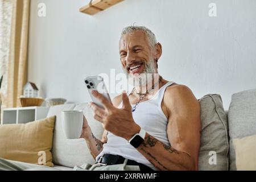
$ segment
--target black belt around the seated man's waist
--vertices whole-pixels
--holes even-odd
[[[98,164],[101,164],[103,166],[106,165],[114,165],[114,164],[123,164],[125,162],[126,158],[123,158],[120,155],[112,155],[112,154],[103,154],[100,159],[97,161]],[[134,160],[127,159],[127,165],[130,166],[139,166],[141,171],[154,171],[150,167],[147,167],[146,165],[142,163],[138,163]]]

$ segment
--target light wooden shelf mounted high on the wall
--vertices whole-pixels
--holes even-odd
[[[91,5],[89,4],[84,7],[81,7],[80,12],[89,15],[94,15],[122,1],[125,0],[94,0],[92,1]]]

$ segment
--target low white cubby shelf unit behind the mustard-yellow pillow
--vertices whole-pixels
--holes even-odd
[[[17,107],[3,110],[2,124],[22,124],[47,117],[49,107]]]

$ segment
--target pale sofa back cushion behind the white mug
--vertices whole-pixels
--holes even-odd
[[[61,111],[63,110],[83,110],[94,136],[101,139],[103,133],[101,123],[93,118],[92,111],[87,104],[51,107],[48,115],[57,115],[53,138],[53,163],[71,168],[85,163],[95,163],[84,139],[66,139],[64,137],[61,122]]]

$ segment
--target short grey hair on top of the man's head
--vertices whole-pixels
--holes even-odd
[[[154,48],[155,44],[157,44],[157,40],[155,37],[155,34],[149,30],[147,27],[144,26],[128,26],[123,28],[122,34],[121,36],[125,35],[125,34],[132,34],[135,31],[142,31],[145,33],[147,39],[148,39],[148,43],[150,44],[151,48]]]

